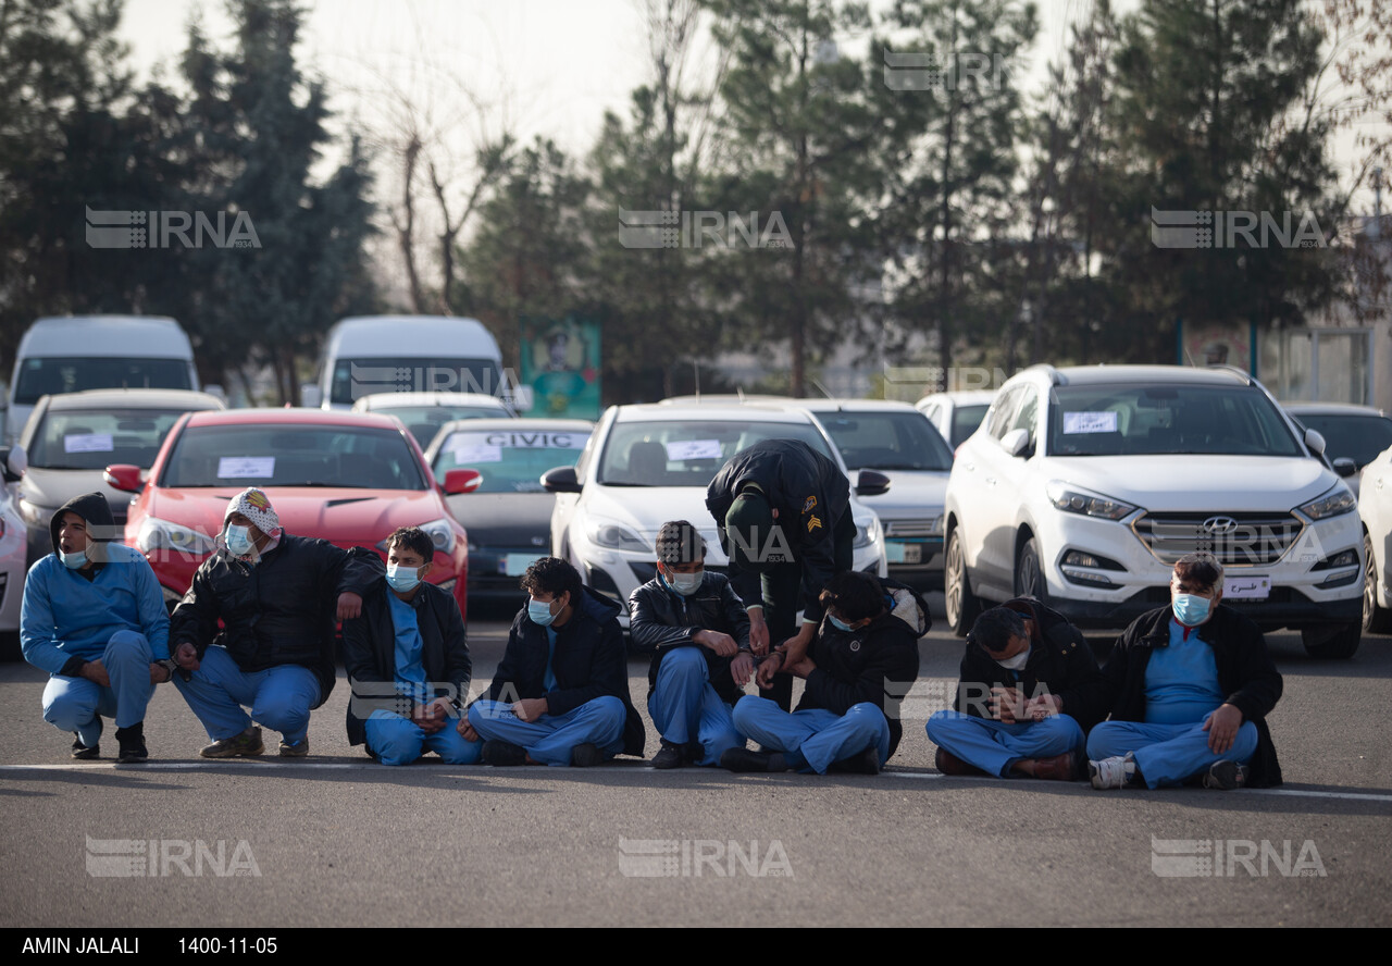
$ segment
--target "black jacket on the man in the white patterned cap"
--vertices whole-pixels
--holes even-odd
[[[221,644],[242,671],[299,664],[319,678],[323,704],[334,689],[338,594],[366,597],[384,572],[370,550],[288,533],[255,567],[220,547],[170,615],[170,651],[188,642],[202,660],[209,644]]]

